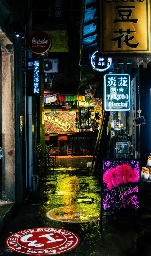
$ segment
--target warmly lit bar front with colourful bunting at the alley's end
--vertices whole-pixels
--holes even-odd
[[[45,95],[47,96],[47,95]],[[78,137],[79,154],[83,155],[85,151],[85,139],[89,136],[86,151],[89,155],[91,147],[95,147],[96,137],[98,134],[99,119],[94,112],[95,106],[91,103],[90,98],[85,95],[63,96],[56,94],[44,98],[44,124],[45,124],[45,144],[52,145],[53,153],[58,153],[58,136],[64,134],[68,140],[68,152],[71,154],[73,140]],[[76,137],[74,137],[76,136]],[[91,138],[90,138],[91,137]],[[77,146],[77,145],[76,145]],[[75,147],[75,145],[74,145]],[[65,141],[60,142],[61,149],[67,149]],[[66,154],[62,150],[62,154]]]

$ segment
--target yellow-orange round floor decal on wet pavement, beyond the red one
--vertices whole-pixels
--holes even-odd
[[[83,205],[79,207],[76,205],[68,205],[59,208],[54,208],[46,213],[49,219],[62,222],[89,222],[100,219],[100,211],[96,212],[96,208],[92,206],[89,209]]]

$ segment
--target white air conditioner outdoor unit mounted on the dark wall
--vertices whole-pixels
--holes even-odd
[[[44,59],[45,73],[58,73],[58,59]]]

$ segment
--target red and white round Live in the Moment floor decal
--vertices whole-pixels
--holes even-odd
[[[28,255],[60,254],[72,250],[79,244],[79,237],[64,229],[26,229],[6,239],[10,250]]]

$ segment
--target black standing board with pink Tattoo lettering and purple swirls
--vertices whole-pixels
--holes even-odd
[[[135,212],[139,209],[139,170],[137,159],[103,159],[103,212]]]

